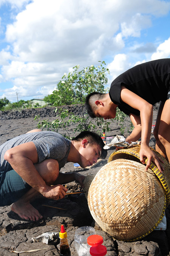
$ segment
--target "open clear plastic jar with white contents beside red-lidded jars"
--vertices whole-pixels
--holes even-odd
[[[87,238],[95,234],[95,229],[91,226],[83,226],[76,229],[74,242],[79,256],[88,256]]]

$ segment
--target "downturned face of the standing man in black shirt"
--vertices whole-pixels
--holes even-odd
[[[107,105],[97,105],[97,109],[94,111],[94,115],[99,118],[111,119],[115,118],[116,116],[116,105],[115,107],[110,108]]]

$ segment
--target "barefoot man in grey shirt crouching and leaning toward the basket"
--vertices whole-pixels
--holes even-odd
[[[83,131],[73,140],[56,132],[31,130],[0,146],[0,206],[11,209],[25,220],[43,216],[29,203],[41,194],[62,199],[67,188],[62,184],[77,181],[83,187],[85,176],[60,173],[66,162],[82,168],[105,158],[104,142],[94,132]],[[53,185],[53,186],[51,186]]]

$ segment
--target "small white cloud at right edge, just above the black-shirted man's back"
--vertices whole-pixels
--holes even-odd
[[[152,54],[151,60],[170,58],[170,37],[158,46],[156,52]]]

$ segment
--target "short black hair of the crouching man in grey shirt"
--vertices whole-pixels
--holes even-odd
[[[102,149],[102,152],[100,155],[101,159],[105,159],[107,157],[107,149],[103,148],[105,146],[105,143],[103,142],[102,138],[96,132],[84,130],[84,131],[80,132],[80,134],[77,135],[72,140],[82,141],[85,138],[89,141],[89,143],[91,145],[99,144],[100,148]]]

